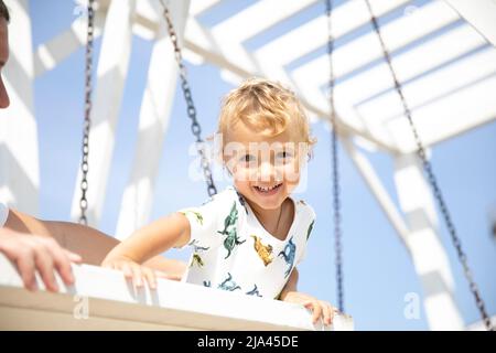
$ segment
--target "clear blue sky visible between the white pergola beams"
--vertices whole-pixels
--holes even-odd
[[[202,17],[205,25],[222,21],[252,1],[225,1]],[[338,1],[341,3],[343,1]],[[422,6],[427,1],[413,1]],[[247,45],[257,47],[295,23],[308,21],[323,11],[323,4],[311,7],[299,17],[271,29]],[[33,46],[50,40],[75,19],[69,0],[31,1]],[[357,34],[358,35],[358,34]],[[96,55],[99,53],[97,41]],[[100,228],[115,232],[122,191],[130,174],[142,92],[152,43],[134,38],[130,72],[120,110],[115,156]],[[41,197],[40,215],[50,220],[69,220],[75,179],[78,170],[83,121],[84,56],[77,51],[35,83],[35,114],[39,122]],[[319,55],[314,53],[313,55]],[[311,58],[312,55],[309,56]],[[306,58],[306,60],[309,60]],[[292,63],[291,65],[301,65]],[[220,98],[233,86],[209,65],[187,65],[193,97],[204,136],[215,130]],[[168,77],[164,77],[166,79]],[[205,85],[208,83],[208,85]],[[300,267],[300,290],[315,297],[335,300],[334,246],[332,239],[332,191],[330,133],[323,124],[312,126],[319,142],[309,165],[309,188],[301,195],[316,211],[317,222],[309,244],[305,261]],[[187,178],[193,137],[180,90],[176,92],[171,124],[163,143],[159,178],[155,185],[152,218],[180,207],[205,201],[203,182]],[[93,147],[93,151],[97,150]],[[455,220],[470,265],[490,314],[496,313],[496,242],[490,237],[488,212],[496,207],[496,124],[489,124],[445,141],[433,150],[432,162],[443,194]],[[382,153],[367,153],[395,202],[392,159]],[[423,330],[425,314],[419,320],[403,317],[405,296],[422,296],[422,288],[407,250],[387,222],[360,175],[341,152],[345,307],[355,318],[358,330]],[[219,184],[222,188],[225,184]],[[299,196],[300,197],[300,196]],[[442,222],[440,222],[442,223]],[[455,299],[465,323],[478,320],[478,312],[456,261],[449,234],[442,226],[441,242],[452,264]],[[188,253],[171,252],[186,259]]]

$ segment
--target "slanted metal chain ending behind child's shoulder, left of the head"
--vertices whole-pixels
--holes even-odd
[[[202,127],[200,126],[198,120],[196,119],[196,108],[193,103],[193,96],[191,93],[190,84],[187,83],[187,75],[186,75],[186,67],[183,63],[183,56],[181,53],[181,49],[179,46],[179,39],[177,34],[174,30],[174,25],[172,23],[171,13],[169,11],[169,8],[165,6],[163,0],[160,1],[163,7],[163,17],[165,18],[165,21],[168,23],[168,32],[169,36],[171,39],[172,45],[174,46],[174,55],[175,61],[179,66],[179,74],[181,78],[181,88],[183,90],[184,99],[186,100],[186,111],[187,117],[191,119],[191,131],[196,138],[196,151],[198,152],[201,157],[201,165],[203,169],[203,175],[205,176],[205,181],[207,183],[207,192],[208,196],[213,196],[217,193],[217,189],[215,188],[214,180],[212,176],[212,170],[209,165],[208,158],[205,154],[205,150],[203,149],[204,140],[202,139]]]

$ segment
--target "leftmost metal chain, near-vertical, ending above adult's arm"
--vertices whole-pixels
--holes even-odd
[[[88,208],[88,201],[86,200],[86,193],[88,191],[88,156],[89,156],[89,128],[91,126],[91,69],[93,69],[93,40],[94,40],[94,0],[88,1],[88,28],[86,40],[86,67],[85,67],[85,121],[83,127],[83,158],[80,161],[80,200],[79,200],[79,223],[87,225],[88,220],[86,217],[86,210]]]

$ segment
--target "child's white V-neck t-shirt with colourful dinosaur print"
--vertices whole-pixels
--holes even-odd
[[[284,240],[267,232],[234,186],[200,207],[182,208],[194,252],[184,281],[245,295],[278,298],[303,259],[315,213],[304,201]]]

